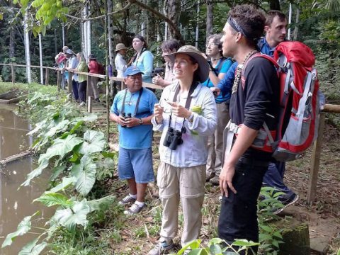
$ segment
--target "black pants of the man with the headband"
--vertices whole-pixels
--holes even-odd
[[[228,244],[232,244],[234,239],[259,241],[257,198],[268,163],[241,158],[235,166],[232,185],[237,193],[229,190],[229,196],[223,196],[218,220],[218,237]],[[257,247],[254,247],[255,250]]]

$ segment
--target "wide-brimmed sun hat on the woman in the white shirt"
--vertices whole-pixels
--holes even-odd
[[[209,64],[208,61],[205,60],[205,57],[203,57],[202,52],[200,52],[196,47],[192,45],[184,45],[177,50],[177,52],[171,53],[169,55],[166,55],[166,57],[169,57],[171,62],[175,61],[176,54],[186,54],[198,62],[198,76],[200,79],[200,82],[206,81],[209,77]]]

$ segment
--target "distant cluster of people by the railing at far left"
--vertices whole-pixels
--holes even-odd
[[[89,72],[91,74],[99,74],[99,63],[93,54],[88,57],[88,64],[84,53],[78,52],[77,55],[69,49],[62,47],[62,52],[55,56],[55,62],[62,72],[62,89],[65,89],[65,84],[69,81],[69,72],[72,72],[72,96],[75,101],[79,102],[80,106],[86,105],[86,90],[89,84],[89,96],[94,98],[94,101],[99,102],[99,91],[97,87],[98,78],[88,77],[86,74],[76,74],[74,71]]]

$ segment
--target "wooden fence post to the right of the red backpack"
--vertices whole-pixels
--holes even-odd
[[[307,191],[307,202],[312,203],[317,192],[317,175],[319,174],[319,165],[321,157],[321,149],[323,142],[324,120],[326,113],[320,113],[319,128],[317,130],[317,140],[314,142],[312,152],[312,162],[310,165],[310,180]]]

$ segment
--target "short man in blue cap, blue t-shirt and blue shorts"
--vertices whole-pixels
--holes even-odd
[[[142,88],[142,74],[135,66],[125,70],[127,89],[115,96],[110,113],[110,119],[118,123],[118,176],[129,185],[129,195],[119,204],[132,204],[124,211],[125,215],[144,208],[147,183],[154,181],[151,119],[157,98],[152,91]]]

